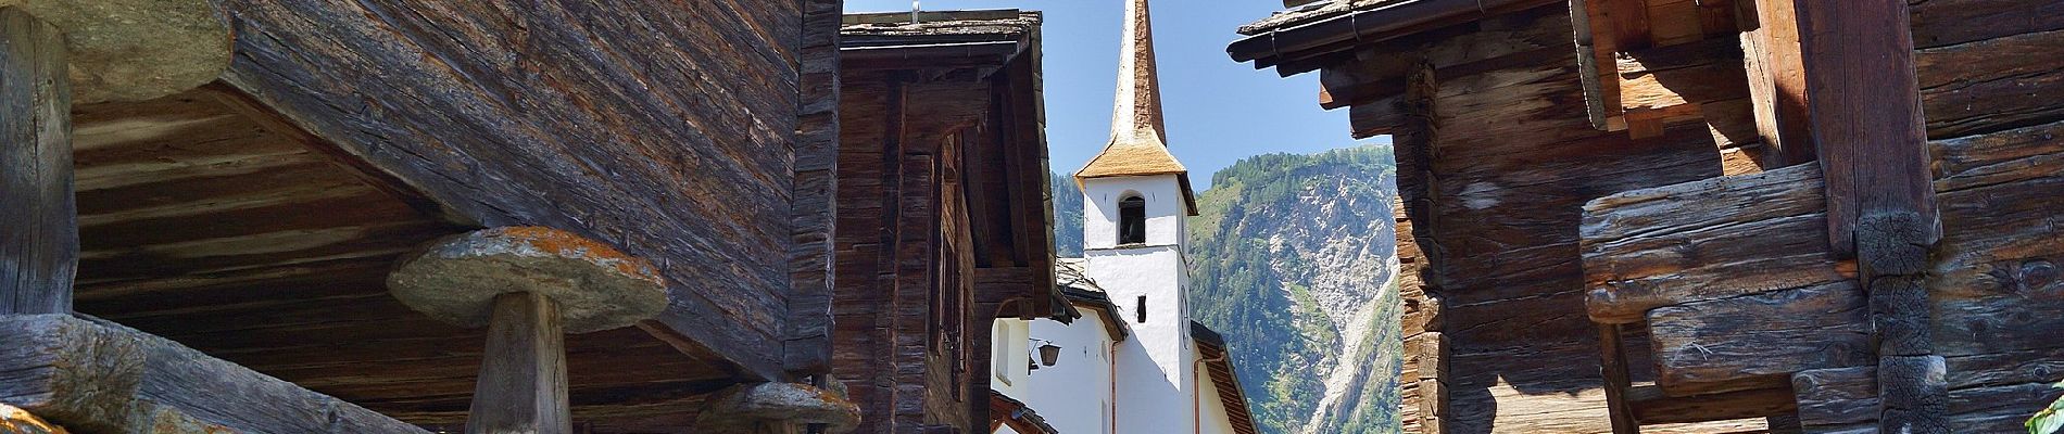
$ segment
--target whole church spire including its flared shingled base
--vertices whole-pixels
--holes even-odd
[[[1154,64],[1154,16],[1148,0],[1125,0],[1125,37],[1119,45],[1119,93],[1110,113],[1110,142],[1075,171],[1075,181],[1100,177],[1174,175],[1183,206],[1197,214],[1189,187],[1189,169],[1168,154],[1168,128],[1162,121],[1160,78]]]

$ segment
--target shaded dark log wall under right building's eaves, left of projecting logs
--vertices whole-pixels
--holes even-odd
[[[1406,368],[1418,378],[1401,385],[1420,407],[1418,430],[1606,432],[1575,247],[1583,202],[1717,177],[1713,138],[1703,125],[1647,140],[1591,128],[1562,6],[1428,35],[1329,68],[1430,68],[1430,130],[1397,132],[1395,119],[1410,115],[1385,115],[1395,107],[1383,103],[1354,107],[1360,136],[1399,138],[1397,187],[1410,216],[1399,243],[1418,247],[1399,253],[1424,257],[1424,265],[1408,257],[1401,290],[1437,298],[1408,298],[1420,306],[1408,304],[1404,321]],[[1412,267],[1420,282],[1410,282]],[[1443,411],[1443,397],[1445,418],[1426,418]]]

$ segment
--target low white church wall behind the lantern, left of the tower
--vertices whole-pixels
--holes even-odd
[[[1082,315],[1073,325],[1053,319],[1030,323],[1032,337],[1061,346],[1061,360],[1055,366],[1032,370],[1030,391],[1011,397],[1030,405],[1061,432],[1110,434],[1110,424],[1102,418],[1112,403],[1112,339],[1098,311],[1082,309]]]

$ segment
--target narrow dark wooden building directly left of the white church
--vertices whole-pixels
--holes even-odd
[[[857,432],[982,432],[991,321],[1073,319],[1053,278],[1038,25],[844,19],[832,337]]]

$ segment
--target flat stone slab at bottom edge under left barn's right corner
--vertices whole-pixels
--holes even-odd
[[[848,432],[861,424],[861,405],[838,391],[760,383],[718,391],[696,415],[696,432],[745,434],[760,424],[824,424],[826,432]]]

